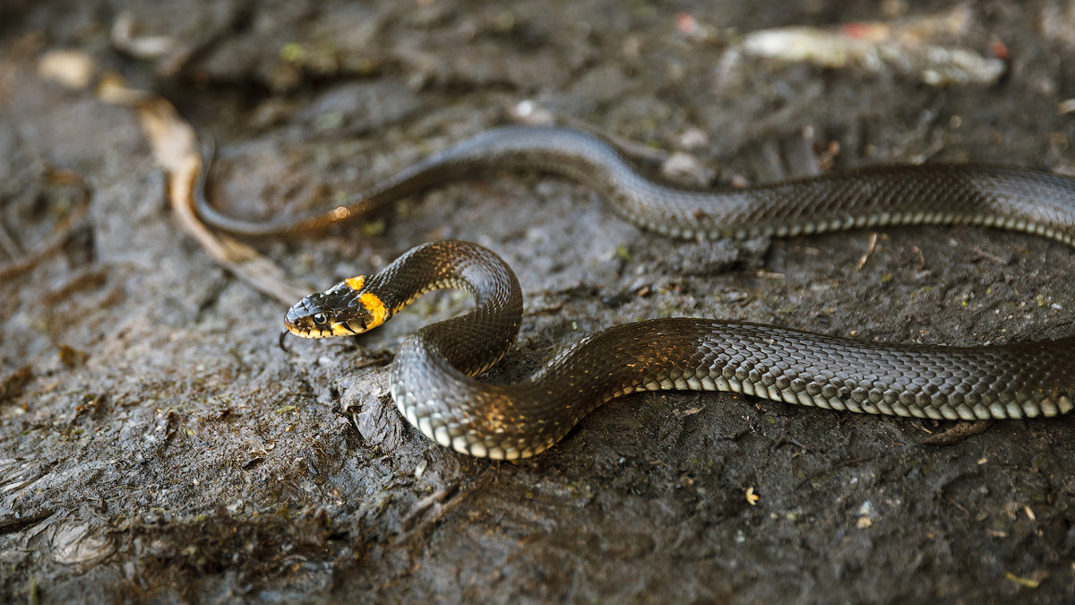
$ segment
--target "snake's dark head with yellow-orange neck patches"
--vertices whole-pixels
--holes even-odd
[[[284,316],[284,327],[302,338],[362,334],[390,314],[381,298],[362,287],[364,278],[344,280],[325,292],[296,302]]]

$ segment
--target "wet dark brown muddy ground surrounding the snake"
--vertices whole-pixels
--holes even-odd
[[[1072,419],[998,422],[937,447],[922,441],[952,423],[647,393],[533,460],[457,454],[399,417],[386,362],[463,298],[284,354],[285,309],[176,228],[134,113],[39,71],[49,51],[78,50],[169,98],[215,133],[211,196],[244,216],[331,203],[507,122],[524,100],[689,154],[680,180],[692,184],[812,173],[823,157],[1075,170],[1075,117],[1058,109],[1075,82],[1071,3],[973,5],[943,43],[1006,57],[1005,72],[943,88],[736,45],[763,28],[955,4],[744,5],[0,9],[0,222],[15,256],[34,258],[0,283],[0,600],[1070,597]],[[152,57],[117,43],[117,20],[130,39],[159,37]],[[92,197],[38,254],[77,198],[49,168],[81,174]],[[519,343],[491,381],[524,378],[592,330],[668,315],[948,344],[1075,333],[1061,244],[891,228],[860,269],[871,236],[672,241],[575,183],[489,174],[321,237],[254,243],[313,289],[431,239],[491,248],[527,296]]]

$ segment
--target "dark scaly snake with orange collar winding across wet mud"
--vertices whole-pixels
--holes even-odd
[[[245,221],[204,200],[199,212],[211,226],[236,235],[300,234],[448,181],[504,169],[577,180],[639,227],[680,239],[947,224],[1024,231],[1075,245],[1075,179],[1050,172],[884,165],[746,188],[692,189],[645,175],[603,137],[559,126],[484,131],[327,212]],[[362,334],[440,289],[467,291],[474,308],[406,337],[390,365],[390,392],[424,435],[474,456],[535,455],[598,406],[636,391],[726,391],[935,420],[1055,417],[1075,406],[1075,337],[979,347],[879,343],[698,318],[612,326],[569,347],[527,380],[490,384],[476,377],[515,341],[521,289],[497,254],[456,240],[418,245],[372,276],[304,297],[287,311],[282,340],[287,334]]]

